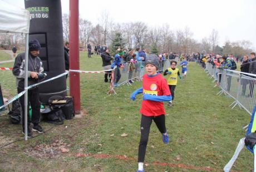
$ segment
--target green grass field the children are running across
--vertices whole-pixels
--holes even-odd
[[[88,59],[84,52],[80,54],[83,70],[102,70],[101,64],[99,56]],[[13,97],[12,73],[0,71],[0,77],[4,97]],[[45,130],[52,128],[46,134],[1,148],[0,171],[136,171],[142,97],[138,95],[135,102],[129,97],[141,82],[118,87],[117,95],[109,96],[103,74],[81,74],[80,80],[82,112],[86,115],[54,128],[42,122]],[[163,144],[155,124],[151,125],[146,171],[221,171],[228,163],[250,117],[245,110],[228,107],[233,99],[216,96],[219,88],[213,86],[204,70],[191,62],[187,80],[178,81],[174,106],[165,105],[168,145]],[[21,126],[9,124],[6,115],[0,117],[0,125],[0,147],[23,138]],[[123,133],[127,136],[122,137]],[[37,145],[47,148],[56,144],[68,153],[52,159],[35,155]],[[244,149],[233,170],[252,169],[253,155]]]

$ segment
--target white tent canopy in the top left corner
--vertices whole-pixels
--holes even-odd
[[[29,33],[29,12],[2,0],[0,4],[0,32]]]

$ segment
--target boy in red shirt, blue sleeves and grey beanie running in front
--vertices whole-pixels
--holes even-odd
[[[150,54],[146,59],[146,72],[143,75],[142,87],[135,90],[131,94],[131,99],[135,100],[136,95],[143,93],[143,100],[140,109],[140,144],[138,153],[137,172],[144,172],[143,164],[146,154],[147,141],[149,139],[149,131],[152,120],[154,120],[157,128],[162,134],[162,139],[165,144],[169,142],[169,137],[165,128],[165,110],[164,103],[171,100],[171,93],[165,78],[157,73],[159,69],[159,59],[155,54]]]

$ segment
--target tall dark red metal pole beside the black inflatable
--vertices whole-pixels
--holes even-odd
[[[70,69],[79,70],[79,0],[70,0]],[[70,95],[75,113],[80,114],[80,73],[70,72]]]

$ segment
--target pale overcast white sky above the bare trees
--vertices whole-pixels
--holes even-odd
[[[24,0],[3,1],[24,8]],[[61,2],[62,13],[68,13],[69,0]],[[152,27],[169,23],[174,31],[188,26],[198,41],[215,29],[220,45],[244,39],[256,49],[256,0],[80,0],[80,17],[94,25],[104,11],[119,23],[141,21]]]

